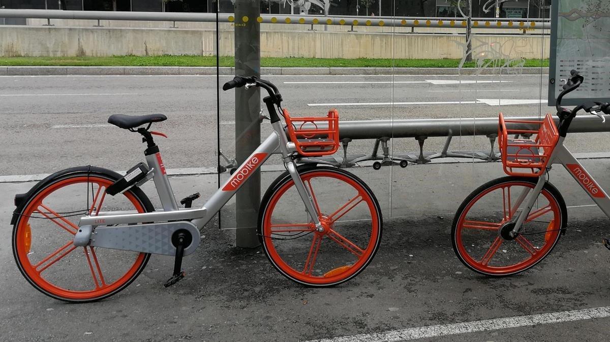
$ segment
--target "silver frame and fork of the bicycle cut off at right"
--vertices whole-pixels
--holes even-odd
[[[585,190],[589,197],[600,207],[601,211],[610,217],[610,197],[608,194],[597,184],[592,176],[589,175],[583,165],[572,155],[572,153],[564,146],[565,137],[560,136],[557,146],[553,150],[553,154],[550,156],[551,164],[561,164],[565,169],[572,175],[572,178],[576,180],[576,183]],[[547,182],[548,170],[545,170],[542,175],[539,176],[538,182],[533,190],[524,189],[522,194],[517,198],[517,202],[512,207],[512,212],[519,212],[517,221],[515,222],[515,228],[513,232],[518,233],[520,228],[528,217],[529,211],[531,211],[536,199],[542,191],[542,187]],[[519,208],[525,201],[525,208]]]

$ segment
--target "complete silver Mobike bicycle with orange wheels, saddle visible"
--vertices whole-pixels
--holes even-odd
[[[229,201],[249,176],[273,154],[286,172],[267,189],[259,209],[258,236],[271,264],[303,285],[346,282],[371,262],[381,241],[379,203],[355,175],[315,164],[297,166],[302,156],[329,155],[339,148],[339,117],[290,117],[271,82],[236,76],[224,90],[264,88],[271,133],[201,208],[199,194],[179,208],[151,131],[162,114],[115,114],[108,122],[139,133],[146,163],[120,175],[84,166],[56,172],[26,194],[15,196],[13,254],[19,270],[37,290],[68,302],[107,298],[131,284],[152,254],[174,257],[165,286],[184,277],[182,257],[192,254],[200,229]],[[279,113],[284,116],[282,124]],[[140,186],[154,180],[162,209],[156,210]]]

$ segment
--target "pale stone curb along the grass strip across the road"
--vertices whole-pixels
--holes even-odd
[[[548,68],[260,68],[264,75],[540,75]],[[220,75],[234,75],[222,67]],[[0,66],[2,76],[46,75],[216,75],[215,66]]]

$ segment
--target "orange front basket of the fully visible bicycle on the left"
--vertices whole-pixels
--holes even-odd
[[[303,156],[332,155],[339,149],[339,113],[329,110],[326,117],[290,117],[284,110],[290,141]]]

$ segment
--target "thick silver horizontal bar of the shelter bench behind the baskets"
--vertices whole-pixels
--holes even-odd
[[[532,124],[507,124],[511,129],[537,129],[540,117],[512,117]],[[559,119],[555,118],[555,124]],[[606,116],[610,122],[610,116]],[[601,124],[597,116],[578,116],[570,125],[570,133],[608,132],[610,123]],[[471,136],[498,133],[498,118],[362,120],[340,121],[340,139],[415,138],[418,136]]]

